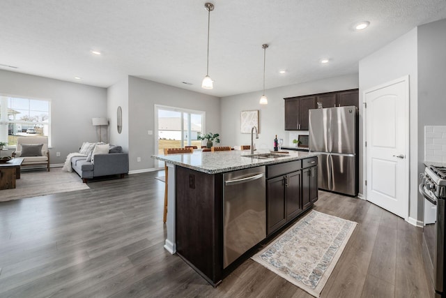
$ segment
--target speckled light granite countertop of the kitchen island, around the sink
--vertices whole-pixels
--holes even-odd
[[[269,150],[256,150],[254,154],[266,154],[270,153]],[[277,151],[276,151],[277,153]],[[305,151],[288,151],[286,157],[279,158],[249,158],[244,155],[249,155],[249,150],[231,150],[231,151],[216,151],[216,152],[202,152],[194,151],[193,154],[158,154],[152,155],[160,161],[167,161],[174,165],[180,165],[192,170],[204,172],[207,174],[217,174],[222,172],[230,172],[234,170],[246,169],[249,167],[257,167],[260,165],[272,165],[275,163],[284,163],[288,161],[297,161],[299,159],[307,158],[310,156],[317,156],[317,154],[305,152]]]

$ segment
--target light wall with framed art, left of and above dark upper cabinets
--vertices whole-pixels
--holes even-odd
[[[318,94],[330,91],[355,89],[358,87],[357,74],[330,77],[314,82],[293,84],[285,87],[267,89],[268,105],[259,105],[262,91],[239,94],[222,98],[222,144],[236,146],[251,144],[249,133],[240,133],[240,112],[245,110],[259,110],[259,140],[254,140],[256,148],[272,149],[274,137],[284,139],[284,147],[291,145],[297,134],[308,134],[308,131],[284,130],[284,98]]]

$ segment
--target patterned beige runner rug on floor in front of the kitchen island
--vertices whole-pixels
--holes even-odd
[[[252,260],[319,297],[356,225],[312,210]]]

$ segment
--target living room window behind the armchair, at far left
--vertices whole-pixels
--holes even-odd
[[[50,145],[51,102],[49,100],[0,96],[0,142],[8,147],[17,137],[48,137]]]

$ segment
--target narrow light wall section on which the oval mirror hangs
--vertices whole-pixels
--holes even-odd
[[[121,107],[123,111],[123,127],[118,133],[117,111]],[[109,119],[109,143],[123,147],[123,151],[129,149],[129,123],[128,123],[128,77],[107,89],[107,118]]]

